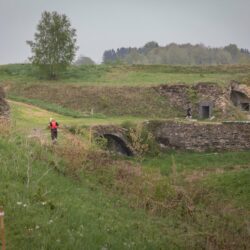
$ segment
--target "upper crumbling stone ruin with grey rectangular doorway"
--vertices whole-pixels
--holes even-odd
[[[216,113],[220,118],[227,119],[233,115],[234,106],[250,114],[250,87],[236,81],[231,81],[227,87],[201,82],[195,85],[164,84],[154,89],[183,115],[190,107],[195,118],[211,119]]]

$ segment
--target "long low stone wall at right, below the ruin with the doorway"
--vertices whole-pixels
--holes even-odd
[[[250,123],[151,121],[148,124],[165,149],[223,151],[250,149]]]

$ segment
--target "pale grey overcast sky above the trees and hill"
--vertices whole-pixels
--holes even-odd
[[[45,10],[69,17],[78,55],[97,63],[107,49],[149,41],[250,49],[250,0],[0,0],[0,64],[27,60]]]

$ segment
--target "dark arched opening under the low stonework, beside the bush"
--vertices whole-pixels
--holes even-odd
[[[103,134],[103,137],[107,139],[107,148],[110,151],[114,151],[126,156],[133,156],[134,153],[129,148],[124,140],[113,134]]]

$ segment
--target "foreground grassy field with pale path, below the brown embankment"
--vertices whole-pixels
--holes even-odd
[[[0,129],[8,249],[247,249],[249,151],[130,159],[64,129],[53,147],[49,117],[80,126],[141,119],[73,118],[10,105],[12,130]],[[45,144],[30,137],[34,129]]]

